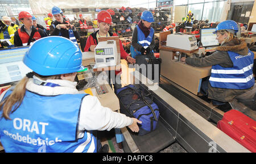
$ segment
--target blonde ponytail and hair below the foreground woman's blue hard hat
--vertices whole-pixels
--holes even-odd
[[[51,76],[42,76],[35,72],[32,72],[33,75],[36,77],[39,77],[43,81],[46,81],[47,79],[60,79],[60,75],[51,75]],[[26,93],[26,85],[28,82],[28,77],[22,78],[17,85],[15,86],[13,92],[9,96],[7,96],[1,103],[0,103],[0,111],[3,110],[2,116],[5,117],[5,119],[10,119],[9,115],[11,112],[14,112],[17,110],[22,103],[22,100],[24,98],[24,95]],[[12,108],[14,107],[13,111]]]

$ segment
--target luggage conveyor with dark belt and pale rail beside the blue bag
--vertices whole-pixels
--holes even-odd
[[[187,152],[249,152],[158,84],[148,84],[147,78],[136,71],[131,74],[135,86],[152,93],[160,116],[158,128],[144,136],[121,129],[125,152],[159,152],[175,142]],[[142,77],[137,78],[139,76]]]

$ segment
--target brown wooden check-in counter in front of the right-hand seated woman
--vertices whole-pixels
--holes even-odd
[[[177,85],[197,95],[200,92],[201,81],[204,77],[210,75],[211,66],[205,68],[197,68],[184,62],[180,62],[174,58],[175,52],[183,52],[192,54],[198,51],[185,51],[181,49],[170,48],[164,45],[167,35],[170,32],[160,32],[160,58],[162,58],[161,72],[164,77],[175,82]],[[162,43],[162,44],[161,44]]]

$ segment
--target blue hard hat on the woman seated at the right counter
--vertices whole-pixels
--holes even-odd
[[[229,32],[238,32],[238,26],[237,23],[234,22],[234,20],[225,20],[224,22],[221,22],[216,27],[216,31],[213,33],[217,33],[217,31],[220,30],[227,30]]]

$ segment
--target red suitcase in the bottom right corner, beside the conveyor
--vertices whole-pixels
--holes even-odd
[[[217,127],[246,149],[256,153],[256,121],[240,111],[230,110],[224,113]]]

